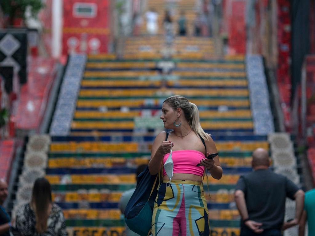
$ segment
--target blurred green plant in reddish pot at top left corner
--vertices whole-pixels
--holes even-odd
[[[8,25],[21,25],[25,18],[27,7],[31,8],[31,14],[36,18],[37,13],[43,8],[42,0],[2,0],[0,6],[7,18]]]

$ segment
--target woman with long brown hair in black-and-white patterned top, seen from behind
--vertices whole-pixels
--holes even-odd
[[[16,228],[23,236],[66,236],[66,222],[61,208],[51,200],[50,183],[38,178],[31,202],[16,213]]]

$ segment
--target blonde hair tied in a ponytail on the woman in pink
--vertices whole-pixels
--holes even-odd
[[[209,140],[209,135],[203,131],[200,125],[199,110],[196,104],[190,103],[187,98],[180,95],[171,96],[164,103],[169,104],[174,110],[180,108],[192,130],[200,135],[201,138]]]

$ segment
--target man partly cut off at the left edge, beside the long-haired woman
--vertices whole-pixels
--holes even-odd
[[[8,196],[8,184],[4,179],[0,179],[0,236],[10,236],[11,227],[10,216],[3,208],[3,202]]]

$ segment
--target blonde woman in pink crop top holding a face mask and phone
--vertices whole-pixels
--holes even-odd
[[[166,132],[159,133],[152,145],[149,171],[152,175],[163,171],[152,235],[209,235],[202,182],[207,170],[215,179],[222,177],[219,157],[211,160],[205,156],[217,152],[215,143],[200,125],[197,106],[183,96],[167,98],[160,118],[164,127],[173,131],[168,137]]]

